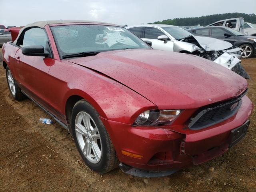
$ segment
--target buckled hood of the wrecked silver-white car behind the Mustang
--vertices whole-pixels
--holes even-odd
[[[210,38],[210,37],[194,36],[194,35],[193,37],[198,42],[198,44],[206,51],[221,51],[221,50],[225,50],[232,47],[231,43],[223,40]],[[191,36],[184,38],[184,40],[190,39],[190,38]],[[186,42],[189,42],[189,41],[186,41]]]

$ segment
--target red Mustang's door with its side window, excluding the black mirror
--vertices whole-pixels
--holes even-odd
[[[47,43],[48,37],[43,29],[30,28],[26,30],[18,40],[17,45],[20,46],[20,49],[15,54],[16,62],[14,64],[18,86],[44,108],[50,108],[51,82],[48,72],[53,59],[43,56],[25,56],[22,54],[22,48],[42,45],[46,49]]]

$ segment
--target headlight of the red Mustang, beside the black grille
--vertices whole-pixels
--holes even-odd
[[[134,126],[170,125],[181,110],[146,110],[136,118]]]

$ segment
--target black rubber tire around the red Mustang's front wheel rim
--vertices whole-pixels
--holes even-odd
[[[90,162],[86,158],[84,152],[82,152],[82,149],[78,143],[78,138],[76,136],[76,131],[75,131],[75,120],[79,112],[86,112],[87,114],[90,115],[90,117],[93,119],[93,121],[95,122],[98,128],[98,133],[100,134],[100,138],[102,142],[102,149],[101,149],[102,155],[101,155],[100,161],[96,164]],[[76,147],[78,148],[78,151],[82,159],[90,169],[94,170],[95,172],[106,173],[118,166],[118,163],[119,163],[118,157],[116,155],[116,151],[114,149],[110,136],[106,131],[104,124],[100,120],[98,112],[86,100],[80,100],[74,105],[74,108],[72,110],[71,126],[72,126],[71,127],[72,135],[74,137]]]

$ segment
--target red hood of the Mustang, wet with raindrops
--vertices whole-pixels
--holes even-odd
[[[132,49],[68,61],[113,78],[159,109],[198,108],[235,97],[247,87],[238,74],[183,53]]]

